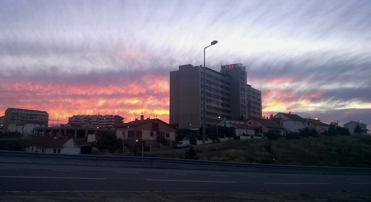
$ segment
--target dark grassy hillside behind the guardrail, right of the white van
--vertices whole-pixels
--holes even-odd
[[[199,158],[202,146],[194,147]],[[147,153],[146,156],[180,158],[185,150]],[[248,139],[206,145],[206,158],[210,161],[244,163],[341,166],[371,168],[370,136],[338,136],[278,140]]]

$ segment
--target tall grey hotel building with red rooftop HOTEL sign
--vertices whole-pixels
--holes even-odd
[[[205,92],[203,77],[205,69]],[[170,124],[178,128],[202,126],[203,93],[205,124],[218,124],[221,119],[262,117],[262,94],[247,84],[246,67],[241,63],[222,65],[220,72],[180,65],[170,72]],[[218,118],[221,117],[221,118]]]

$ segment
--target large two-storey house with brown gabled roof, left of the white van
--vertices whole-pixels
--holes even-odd
[[[116,125],[116,136],[123,138],[129,147],[133,147],[136,142],[141,142],[146,147],[150,145],[157,147],[160,144],[174,143],[176,130],[158,118],[144,119],[141,115],[140,120],[135,119],[135,121]]]

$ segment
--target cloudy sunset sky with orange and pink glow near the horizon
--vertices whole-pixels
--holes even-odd
[[[264,116],[371,125],[368,0],[0,0],[0,115],[131,121],[143,104],[145,117],[168,122],[169,72],[203,64],[213,40],[206,67],[246,65]]]

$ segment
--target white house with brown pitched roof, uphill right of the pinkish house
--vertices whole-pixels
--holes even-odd
[[[291,114],[291,112],[282,113],[279,112],[273,118],[272,121],[276,122],[286,131],[289,132],[300,132],[302,129],[308,127],[308,121],[296,114]]]

